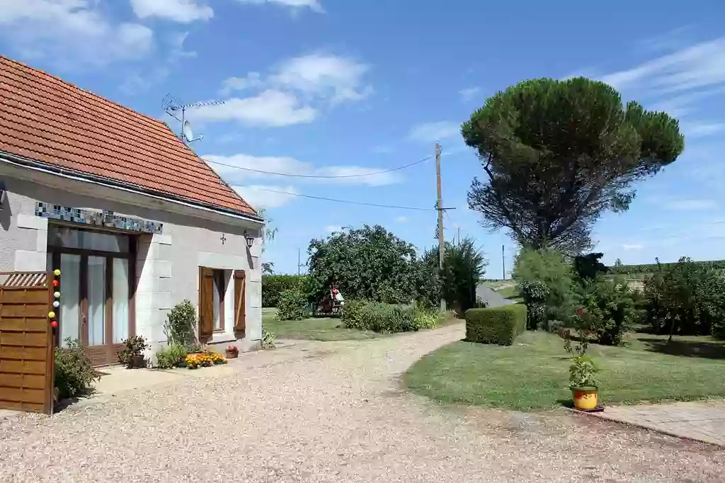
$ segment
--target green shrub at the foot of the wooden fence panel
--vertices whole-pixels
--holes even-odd
[[[58,389],[58,396],[78,397],[91,394],[94,391],[94,381],[101,379],[101,373],[96,371],[91,358],[78,341],[65,339],[67,347],[56,347],[54,355],[54,385]]]

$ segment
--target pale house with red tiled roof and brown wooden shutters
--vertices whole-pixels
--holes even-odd
[[[201,342],[260,347],[265,222],[162,121],[0,57],[0,199],[0,272],[61,271],[57,344],[150,358],[191,300]]]

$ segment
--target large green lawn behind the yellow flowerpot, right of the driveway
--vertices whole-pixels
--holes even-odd
[[[604,404],[725,396],[725,343],[709,337],[666,344],[666,337],[633,334],[626,347],[592,344],[588,353],[602,369]],[[534,410],[571,401],[568,366],[562,339],[526,332],[511,347],[444,346],[415,363],[405,381],[441,402]]]

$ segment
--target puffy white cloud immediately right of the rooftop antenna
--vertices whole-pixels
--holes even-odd
[[[233,97],[218,106],[204,106],[189,117],[207,122],[238,121],[244,125],[281,127],[311,123],[317,110],[302,104],[293,94],[267,90],[253,97]]]

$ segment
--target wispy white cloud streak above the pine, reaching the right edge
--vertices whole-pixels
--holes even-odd
[[[725,37],[700,42],[637,67],[602,76],[618,89],[687,91],[725,83]]]

